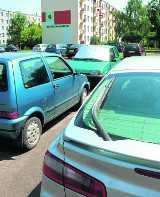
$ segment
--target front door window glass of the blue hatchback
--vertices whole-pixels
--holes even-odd
[[[72,74],[68,65],[59,57],[46,57],[53,79],[66,77]]]

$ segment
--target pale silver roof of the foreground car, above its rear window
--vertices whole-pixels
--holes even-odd
[[[114,72],[160,72],[160,56],[132,56],[123,59],[112,70]]]

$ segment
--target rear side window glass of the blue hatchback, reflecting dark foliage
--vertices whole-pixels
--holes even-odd
[[[49,77],[41,58],[20,62],[20,69],[25,88],[31,88],[49,82]]]

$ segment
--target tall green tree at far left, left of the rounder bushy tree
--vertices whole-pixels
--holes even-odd
[[[26,16],[17,12],[13,18],[10,19],[10,25],[8,29],[9,39],[8,44],[14,44],[21,47],[21,33],[24,30],[27,23]]]

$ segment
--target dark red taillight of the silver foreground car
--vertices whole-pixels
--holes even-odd
[[[106,197],[105,186],[95,178],[66,164],[48,151],[45,154],[43,173],[64,187],[88,197]]]

